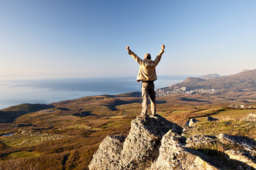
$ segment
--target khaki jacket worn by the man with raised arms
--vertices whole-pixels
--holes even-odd
[[[140,64],[140,69],[137,76],[137,81],[155,81],[157,79],[157,73],[155,72],[155,67],[160,62],[162,53],[164,50],[161,50],[154,61],[152,60],[141,60],[140,57],[135,55],[131,50],[128,52],[133,59]]]

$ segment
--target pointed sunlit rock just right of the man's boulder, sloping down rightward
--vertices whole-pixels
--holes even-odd
[[[194,149],[186,147],[184,137],[168,132],[163,138],[160,155],[150,170],[161,169],[221,169],[222,163]]]

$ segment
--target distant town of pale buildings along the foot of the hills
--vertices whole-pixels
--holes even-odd
[[[177,87],[170,85],[169,88],[156,89],[156,96],[170,96],[172,94],[218,94],[216,89],[189,89],[186,86]]]

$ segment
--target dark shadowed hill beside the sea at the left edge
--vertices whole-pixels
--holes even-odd
[[[0,111],[0,123],[12,123],[13,120],[21,115],[32,113],[35,111],[41,111],[47,108],[54,108],[54,106],[46,104],[29,104],[24,103],[17,106],[11,106],[4,108]]]

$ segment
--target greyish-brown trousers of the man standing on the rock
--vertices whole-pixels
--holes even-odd
[[[148,113],[148,96],[150,96],[150,106],[152,115],[155,115],[155,84],[154,81],[143,82],[141,84],[141,97],[143,98],[143,110],[141,111],[141,115],[147,115]]]

